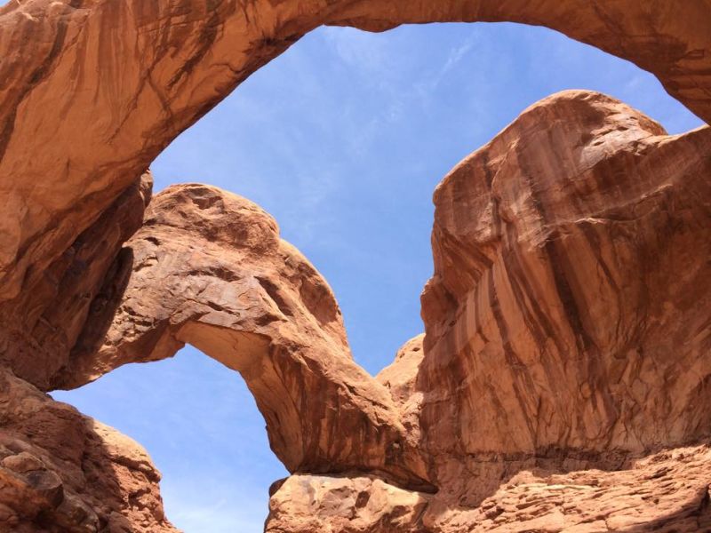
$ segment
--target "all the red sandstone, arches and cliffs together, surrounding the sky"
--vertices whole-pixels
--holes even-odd
[[[272,533],[711,529],[711,133],[534,104],[435,190],[425,332],[371,377],[249,200],[151,197],[180,131],[324,24],[509,20],[635,62],[708,121],[711,5],[13,1],[0,8],[0,530],[174,531],[140,445],[47,394],[189,343],[292,475]]]

